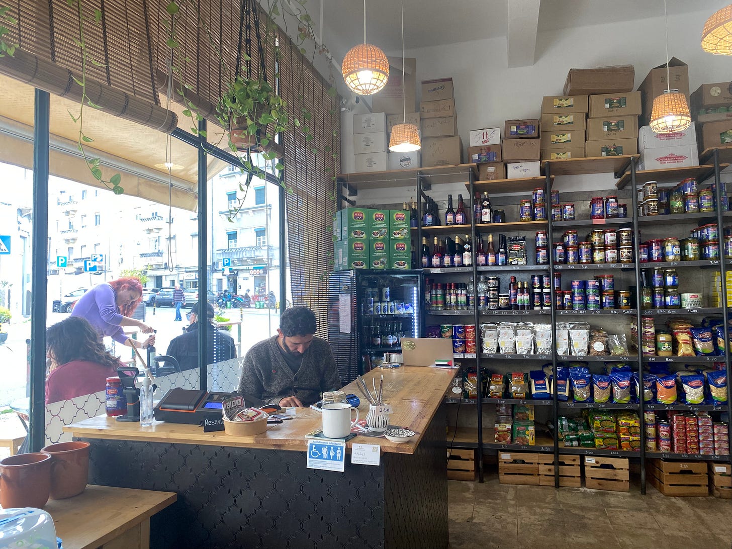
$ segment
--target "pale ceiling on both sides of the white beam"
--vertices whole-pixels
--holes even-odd
[[[403,0],[406,49],[468,42],[507,35],[507,2],[512,0]],[[725,0],[667,0],[668,15],[713,12]],[[322,41],[340,64],[348,49],[363,40],[362,0],[310,0],[307,10]],[[322,12],[321,12],[322,11]],[[662,0],[541,0],[539,32],[661,17]],[[366,0],[367,42],[387,53],[401,50],[400,4]],[[701,35],[701,29],[693,29]]]

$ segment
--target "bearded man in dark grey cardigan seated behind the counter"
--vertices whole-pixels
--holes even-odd
[[[256,343],[244,356],[239,392],[267,404],[303,408],[320,400],[322,392],[340,389],[333,352],[314,334],[312,310],[285,310],[277,335]]]

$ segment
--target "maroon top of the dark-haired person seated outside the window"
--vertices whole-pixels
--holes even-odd
[[[102,366],[88,360],[67,362],[49,374],[46,380],[46,404],[103,391],[107,378],[116,375],[116,367]]]

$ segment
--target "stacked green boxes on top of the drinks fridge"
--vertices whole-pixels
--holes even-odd
[[[344,208],[333,216],[335,271],[409,269],[409,212]]]

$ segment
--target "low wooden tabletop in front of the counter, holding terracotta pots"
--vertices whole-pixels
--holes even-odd
[[[176,501],[175,492],[87,485],[78,496],[49,499],[43,510],[53,517],[64,547],[98,548]]]

